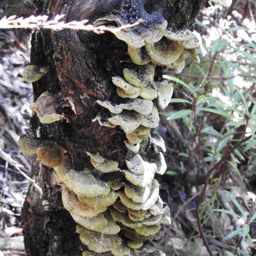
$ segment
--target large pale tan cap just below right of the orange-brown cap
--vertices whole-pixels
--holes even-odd
[[[76,171],[71,169],[64,176],[63,182],[78,196],[105,196],[110,192],[108,183],[95,178],[89,171]]]

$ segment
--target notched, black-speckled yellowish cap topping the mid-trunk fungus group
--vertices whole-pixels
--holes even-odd
[[[155,65],[148,63],[140,66],[140,70],[136,71],[130,68],[124,68],[124,78],[130,84],[136,87],[144,87],[148,84],[152,84],[155,75]]]

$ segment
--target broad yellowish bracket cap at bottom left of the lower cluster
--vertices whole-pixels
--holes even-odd
[[[118,235],[102,234],[80,225],[76,227],[76,232],[80,233],[82,243],[94,252],[107,252],[117,248],[122,243],[122,239]]]

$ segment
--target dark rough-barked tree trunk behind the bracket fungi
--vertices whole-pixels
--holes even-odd
[[[64,13],[67,19],[73,0],[34,2],[38,15],[48,15],[51,19],[56,14]],[[95,4],[100,1],[84,1],[83,11],[88,14],[90,21],[104,14],[109,15],[112,11],[118,12],[120,8],[129,9],[132,5],[131,1],[105,0],[103,5],[95,9],[90,7],[91,2]],[[139,0],[135,2],[140,3]],[[154,3],[158,1],[144,2],[148,12],[162,11],[168,27],[173,30],[192,30],[201,4],[201,0],[159,0],[161,8],[157,9],[159,6]],[[143,5],[138,4],[138,8]],[[78,12],[74,8],[69,17],[76,17],[74,10]],[[34,100],[43,92],[50,92],[58,102],[55,105],[56,113],[64,116],[58,122],[42,124],[37,115],[33,115],[30,121],[32,137],[57,142],[65,148],[65,154],[71,159],[75,170],[93,169],[86,152],[99,152],[100,156],[117,161],[120,169],[126,169],[125,159],[131,159],[135,153],[124,144],[124,140],[127,140],[125,132],[118,125],[111,128],[100,125],[98,121],[92,122],[92,119],[100,111],[103,116],[109,115],[109,111],[104,110],[96,100],[116,104],[121,102],[112,77],[123,77],[124,68],[137,68],[127,54],[127,44],[112,33],[97,35],[93,32],[41,29],[33,34],[31,45],[31,65],[49,67],[48,73],[33,83]],[[160,81],[162,73],[163,67],[157,66],[154,80]],[[157,104],[156,100],[154,104]],[[138,153],[144,161],[154,163],[158,151],[148,138],[142,140]],[[76,233],[75,221],[63,207],[61,185],[55,180],[55,172],[41,164],[36,155],[33,155],[31,170],[31,178],[43,189],[43,196],[30,186],[23,205],[22,225],[27,255],[82,255],[87,247]],[[106,182],[127,182],[122,172],[103,173],[100,178]],[[155,178],[161,184],[159,174]]]

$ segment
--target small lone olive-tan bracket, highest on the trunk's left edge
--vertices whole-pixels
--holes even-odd
[[[49,71],[48,67],[41,65],[28,65],[23,70],[23,78],[26,82],[36,82]]]

